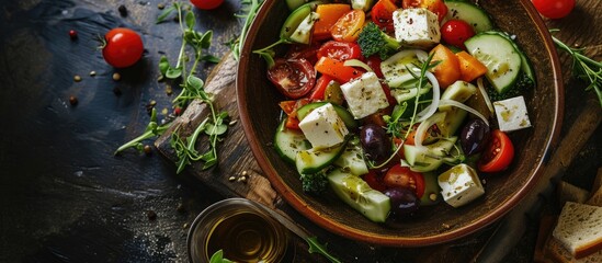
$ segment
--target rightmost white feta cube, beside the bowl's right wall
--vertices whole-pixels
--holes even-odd
[[[523,96],[493,102],[493,108],[496,110],[500,130],[513,132],[531,127]]]

